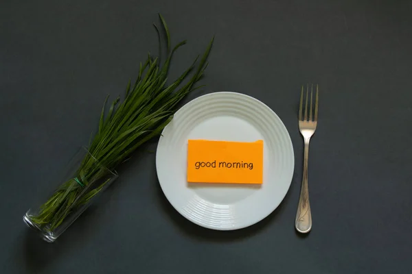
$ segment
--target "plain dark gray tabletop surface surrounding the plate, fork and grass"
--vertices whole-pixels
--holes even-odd
[[[171,77],[216,34],[207,92],[251,95],[284,121],[295,175],[261,223],[215,232],[159,188],[153,140],[54,244],[22,216],[80,145],[107,94],[123,94],[161,12],[187,38]],[[0,3],[1,273],[410,273],[411,1],[10,1]],[[321,87],[310,153],[313,229],[293,223],[301,84]]]

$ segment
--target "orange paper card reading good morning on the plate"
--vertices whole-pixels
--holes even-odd
[[[187,182],[262,184],[263,140],[189,140]]]

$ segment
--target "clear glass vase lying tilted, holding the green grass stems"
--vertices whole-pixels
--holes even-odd
[[[86,147],[79,149],[60,176],[58,182],[52,182],[58,187],[23,216],[23,221],[47,242],[54,242],[65,232],[118,177]]]

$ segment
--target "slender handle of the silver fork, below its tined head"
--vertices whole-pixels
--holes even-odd
[[[310,138],[305,138],[304,176],[295,220],[295,228],[301,233],[308,233],[310,229],[312,229],[312,214],[310,213],[308,189],[309,141]]]

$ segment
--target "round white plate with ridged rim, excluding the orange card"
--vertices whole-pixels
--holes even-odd
[[[165,197],[185,218],[210,229],[258,223],[279,206],[295,158],[286,127],[267,105],[236,92],[203,95],[183,106],[157,145],[157,176]],[[262,186],[187,183],[187,140],[264,140]]]

